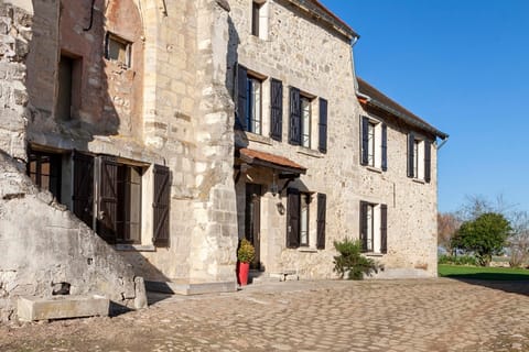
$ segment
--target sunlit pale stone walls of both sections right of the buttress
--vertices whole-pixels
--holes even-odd
[[[287,194],[273,197],[268,189],[261,199],[261,263],[267,272],[295,271],[301,277],[333,277],[333,241],[359,238],[360,200],[388,205],[388,253],[375,260],[386,274],[435,276],[436,168],[432,148],[432,182],[421,184],[407,177],[409,127],[393,123],[388,130],[387,173],[371,172],[359,164],[359,117],[365,114],[356,99],[349,41],[321,19],[306,14],[291,1],[267,1],[261,16],[268,25],[264,38],[250,34],[251,1],[230,1],[231,19],[239,37],[236,61],[264,78],[262,82],[263,133],[238,133],[236,141],[263,152],[285,156],[307,168],[306,175],[289,186],[327,195],[326,250],[315,249],[316,195],[310,205],[310,246],[285,249]],[[304,7],[302,7],[304,8]],[[282,142],[268,138],[270,91],[268,79],[283,82]],[[289,86],[328,100],[327,153],[288,143]],[[317,106],[313,105],[312,135],[317,135]],[[239,237],[245,235],[245,183],[269,186],[271,170],[250,168],[237,184]],[[280,182],[280,187],[284,182]],[[393,196],[395,195],[395,196]],[[397,270],[397,271],[392,271]]]

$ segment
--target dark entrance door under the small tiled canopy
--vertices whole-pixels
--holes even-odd
[[[245,237],[256,249],[252,268],[260,270],[261,186],[246,184]]]

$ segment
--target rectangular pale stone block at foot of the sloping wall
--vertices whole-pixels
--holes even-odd
[[[17,315],[22,321],[108,316],[110,300],[104,296],[19,297]]]

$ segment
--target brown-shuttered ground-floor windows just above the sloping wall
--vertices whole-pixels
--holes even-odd
[[[110,155],[30,150],[26,168],[39,188],[50,190],[109,243],[141,244],[143,212],[145,205],[152,205],[148,212],[153,217],[153,242],[169,245],[171,173],[166,166]],[[147,191],[152,201],[143,202],[147,175],[152,177],[153,188]]]

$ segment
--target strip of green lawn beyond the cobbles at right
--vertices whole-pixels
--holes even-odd
[[[453,278],[475,278],[488,280],[529,280],[529,270],[510,267],[478,267],[439,265],[439,276]]]

